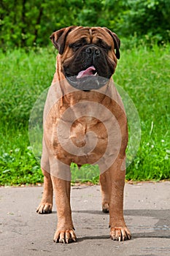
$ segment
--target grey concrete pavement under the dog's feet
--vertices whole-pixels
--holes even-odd
[[[109,238],[99,186],[72,187],[77,243],[55,244],[56,208],[36,214],[42,187],[0,188],[0,255],[170,255],[170,182],[125,184],[124,215],[131,241]]]

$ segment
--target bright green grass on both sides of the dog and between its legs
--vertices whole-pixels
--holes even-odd
[[[169,45],[153,45],[121,50],[114,80],[133,99],[142,127],[127,180],[170,178],[169,49]],[[53,48],[0,52],[0,69],[0,184],[42,182],[28,139],[28,119],[34,102],[53,79],[55,52]],[[85,165],[78,170],[73,164],[72,173],[73,181],[98,181],[98,167]]]

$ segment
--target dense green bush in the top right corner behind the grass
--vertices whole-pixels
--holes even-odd
[[[124,1],[126,11],[122,14],[120,31],[123,36],[136,34],[149,42],[166,42],[170,38],[169,0]]]

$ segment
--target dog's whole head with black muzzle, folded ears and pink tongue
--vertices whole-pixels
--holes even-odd
[[[120,39],[107,28],[70,26],[50,39],[61,55],[61,72],[77,89],[104,86],[120,59]]]

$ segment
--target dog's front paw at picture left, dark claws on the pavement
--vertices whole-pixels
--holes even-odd
[[[57,230],[53,241],[55,243],[69,244],[77,241],[77,237],[73,230]]]

